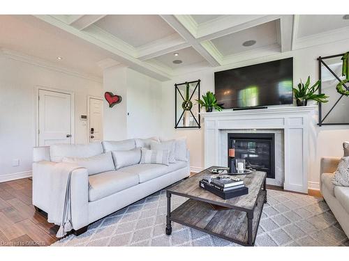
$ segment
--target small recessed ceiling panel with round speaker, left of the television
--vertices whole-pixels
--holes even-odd
[[[178,56],[174,56],[174,53],[178,53]],[[193,65],[195,63],[202,63],[205,62],[205,58],[200,56],[198,52],[195,51],[192,47],[181,49],[177,52],[173,52],[171,54],[165,54],[163,56],[158,56],[154,59],[156,62],[163,63],[164,65],[168,66],[171,69],[177,69],[177,68],[183,68],[186,65]],[[150,60],[150,61],[151,61]],[[175,64],[173,63],[174,60],[180,60],[182,63]],[[208,65],[209,63],[207,63]]]

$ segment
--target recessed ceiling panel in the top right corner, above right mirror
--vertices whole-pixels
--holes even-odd
[[[349,20],[344,15],[299,15],[297,37],[324,33],[334,29],[349,26]]]

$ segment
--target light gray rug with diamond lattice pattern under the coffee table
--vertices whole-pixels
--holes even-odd
[[[256,246],[349,246],[322,199],[274,190],[267,193]],[[172,196],[174,208],[184,201]],[[70,235],[52,246],[238,246],[177,223],[172,225],[172,235],[165,235],[165,213],[163,190],[91,224],[83,235]]]

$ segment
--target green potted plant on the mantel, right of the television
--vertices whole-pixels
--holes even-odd
[[[301,82],[298,84],[298,88],[293,88],[293,93],[295,93],[295,99],[297,102],[297,106],[306,106],[308,100],[314,100],[316,102],[328,102],[327,98],[329,96],[325,95],[325,93],[317,93],[320,80],[316,81],[315,84],[311,87],[310,85],[310,76],[306,80],[306,83]]]

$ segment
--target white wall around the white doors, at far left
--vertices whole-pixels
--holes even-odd
[[[80,115],[87,115],[87,95],[101,96],[102,83],[0,54],[0,182],[30,175],[36,86],[75,93],[75,143],[88,142]],[[13,159],[20,159],[20,166],[13,167]]]

